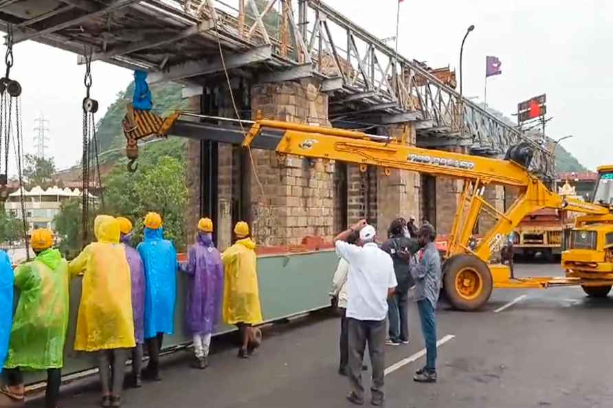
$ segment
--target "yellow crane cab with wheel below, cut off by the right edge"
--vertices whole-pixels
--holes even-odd
[[[613,208],[613,166],[598,168],[593,203]],[[613,215],[579,216],[566,234],[561,267],[567,277],[579,278],[590,296],[608,295],[613,285]]]

